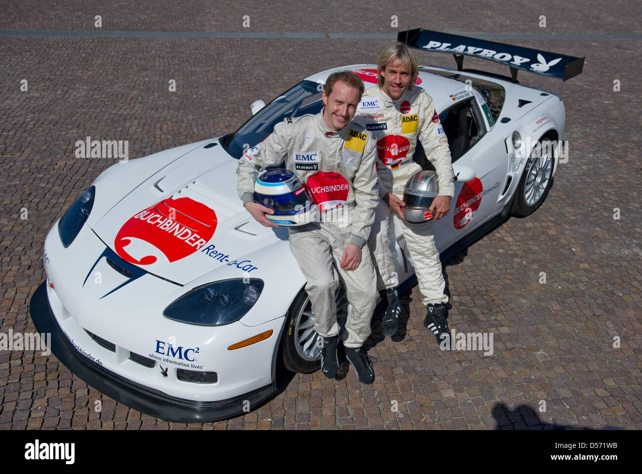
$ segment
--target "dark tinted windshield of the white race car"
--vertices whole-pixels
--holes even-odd
[[[300,82],[263,107],[232,135],[223,137],[221,139],[223,148],[238,160],[245,150],[265,140],[274,130],[275,124],[288,117],[321,112],[322,92],[323,87],[319,87],[316,82]]]

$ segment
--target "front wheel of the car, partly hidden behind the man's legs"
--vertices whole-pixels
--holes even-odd
[[[336,292],[336,318],[340,326],[347,319],[348,300],[343,284]],[[286,369],[299,373],[311,373],[321,367],[323,338],[315,331],[315,314],[305,289],[295,298],[285,334],[281,337],[282,362]]]

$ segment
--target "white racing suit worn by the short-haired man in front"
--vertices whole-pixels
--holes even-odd
[[[379,201],[374,137],[356,123],[330,130],[323,111],[286,119],[239,160],[238,192],[244,204],[254,202],[258,172],[283,160],[306,183],[318,208],[317,222],[290,227],[290,249],[306,278],[315,330],[323,337],[339,333],[334,300],[338,269],[349,302],[343,344],[360,347],[370,335],[377,300],[374,264],[365,245]],[[354,271],[340,266],[347,244],[361,248],[361,263]]]

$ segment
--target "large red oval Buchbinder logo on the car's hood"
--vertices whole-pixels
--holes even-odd
[[[175,262],[200,250],[216,230],[216,213],[190,198],[165,199],[129,219],[116,235],[119,257],[135,265]]]

